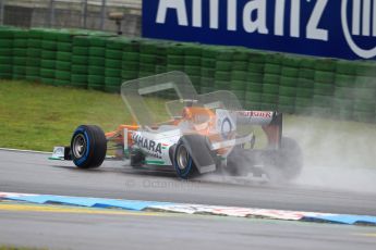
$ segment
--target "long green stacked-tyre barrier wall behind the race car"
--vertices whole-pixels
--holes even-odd
[[[131,39],[101,32],[0,28],[0,78],[117,92],[124,80],[182,71],[199,92],[244,108],[376,121],[376,63],[239,47]]]

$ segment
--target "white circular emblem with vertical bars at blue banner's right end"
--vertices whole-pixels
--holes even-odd
[[[375,36],[375,16],[376,16],[376,1],[373,0],[373,8],[371,8],[371,1],[369,0],[350,0],[352,1],[352,24],[351,24],[351,33],[350,34],[350,25],[349,25],[349,18],[348,18],[348,7],[349,7],[349,0],[342,0],[341,5],[341,22],[342,22],[342,30],[345,37],[345,40],[351,48],[351,50],[357,54],[359,57],[363,59],[372,59],[376,57],[376,47],[373,49],[362,49],[351,35],[360,36],[362,30],[362,36],[369,37],[371,33],[371,10],[373,10],[373,18],[374,18],[374,27],[373,27],[373,35]],[[361,8],[361,3],[363,3],[363,9]],[[366,9],[365,9],[366,7]],[[361,28],[361,21],[362,21],[362,28]]]

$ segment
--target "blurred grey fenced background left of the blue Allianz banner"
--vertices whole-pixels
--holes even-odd
[[[108,16],[124,14],[122,33],[141,35],[141,0],[0,0],[0,25],[117,32]]]

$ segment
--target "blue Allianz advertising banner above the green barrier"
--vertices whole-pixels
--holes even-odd
[[[376,59],[376,0],[143,0],[143,36]]]

